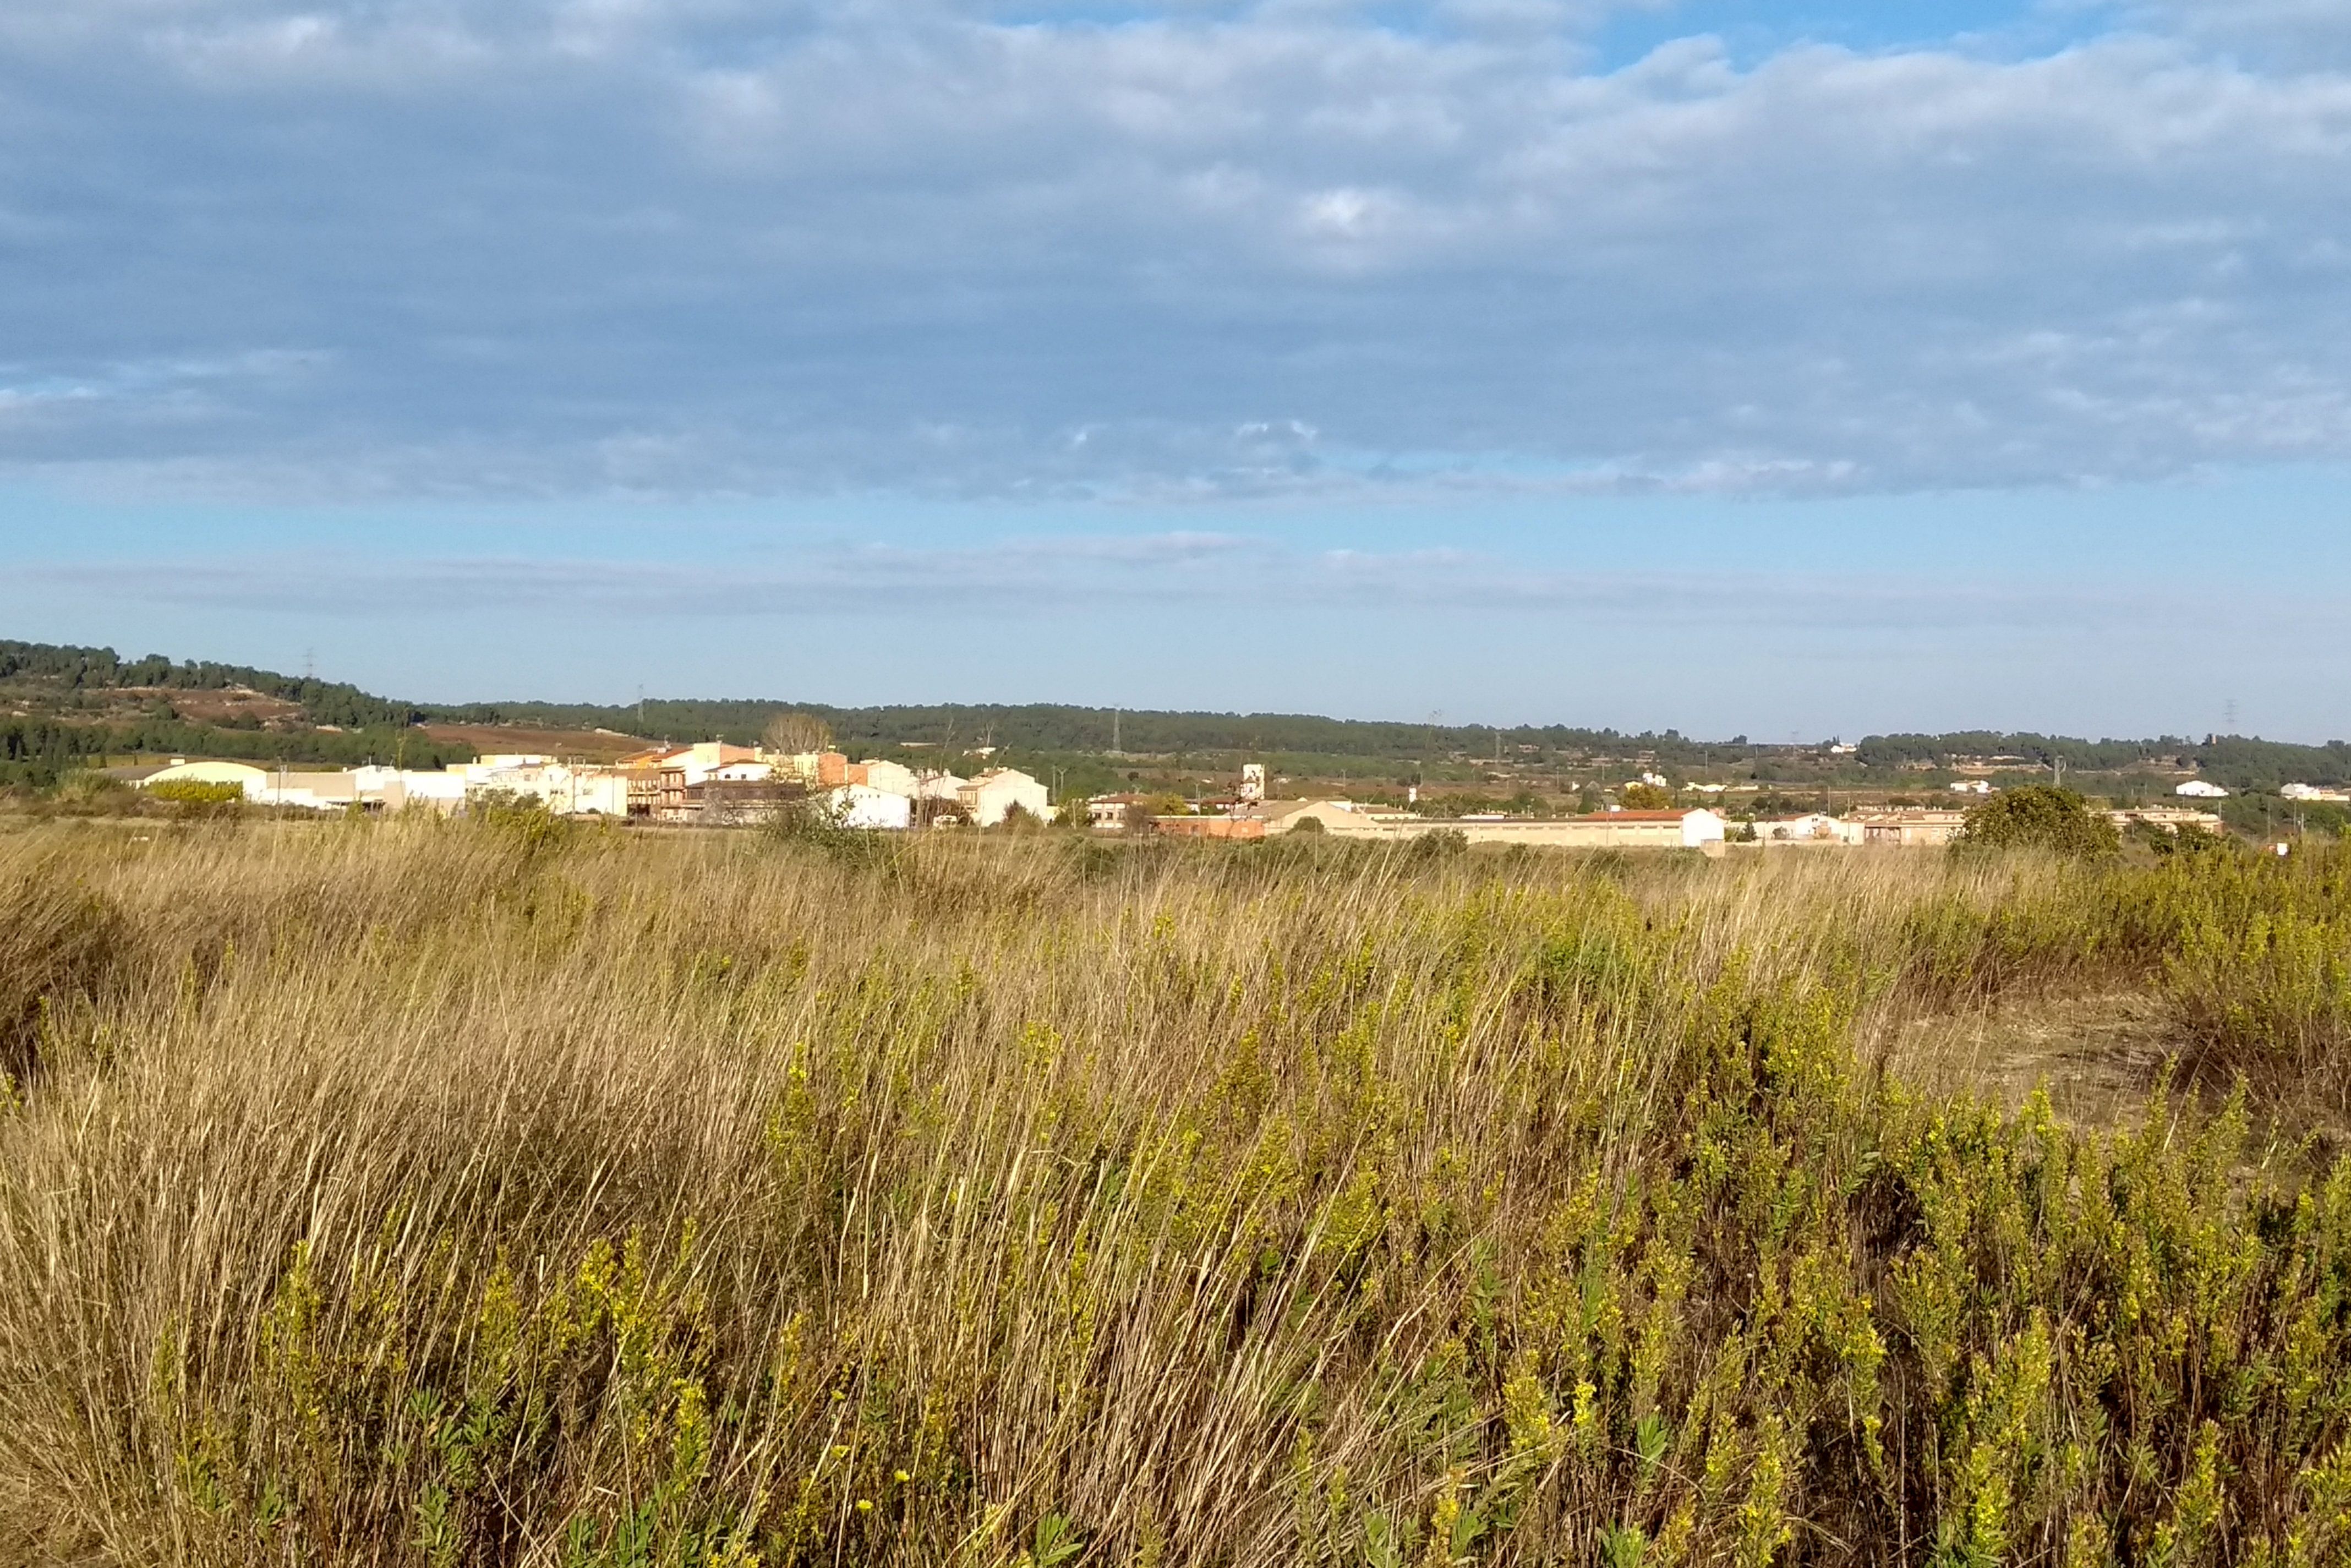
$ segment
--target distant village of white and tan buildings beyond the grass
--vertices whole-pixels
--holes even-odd
[[[1157,835],[1246,842],[1310,832],[1342,839],[1411,839],[1458,835],[1465,844],[1523,844],[1552,849],[1935,849],[1965,825],[1965,804],[1991,795],[1984,780],[1951,785],[1951,806],[1878,804],[1843,813],[1742,816],[1721,799],[1721,785],[1693,783],[1707,804],[1681,804],[1662,776],[1643,776],[1627,802],[1573,816],[1462,813],[1357,802],[1345,797],[1277,799],[1262,764],[1241,764],[1223,797],[1199,802],[1110,792],[1056,799],[1034,776],[997,766],[962,778],[945,769],[912,769],[837,750],[781,752],[759,745],[701,741],[663,745],[611,764],[564,762],[545,755],[487,755],[449,769],[357,766],[339,771],[268,769],[249,762],[174,759],[139,769],[134,788],[188,785],[219,790],[254,806],[336,813],[433,811],[463,813],[487,806],[527,806],[562,818],[600,818],[658,827],[750,827],[788,818],[828,827],[910,832],[924,827],[1006,827],[1060,823],[1096,835]],[[2222,818],[2198,799],[2226,795],[2205,780],[2177,785],[2182,804],[2114,806],[2116,827],[2165,832],[2224,832]],[[2318,799],[2320,790],[2297,788]]]

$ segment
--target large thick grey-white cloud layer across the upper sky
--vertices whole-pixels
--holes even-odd
[[[2337,9],[1596,71],[1596,12],[1538,5],[16,7],[0,468],[1166,501],[2342,458],[2351,52],[2248,42]]]

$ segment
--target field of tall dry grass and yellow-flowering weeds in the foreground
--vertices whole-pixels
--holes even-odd
[[[2344,853],[33,823],[0,1048],[5,1561],[2351,1554]]]

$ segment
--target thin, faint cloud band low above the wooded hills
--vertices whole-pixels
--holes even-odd
[[[1472,611],[1639,628],[1810,628],[1914,637],[2149,625],[2337,625],[2342,602],[2144,585],[1933,578],[1895,571],[1578,571],[1474,550],[1298,550],[1239,534],[1002,538],[978,545],[832,543],[790,559],[663,564],[609,557],[313,552],[242,559],[31,564],[21,581],[101,602],[270,614],[632,616],[712,621],[872,614],[1056,614],[1206,607],[1220,614]]]

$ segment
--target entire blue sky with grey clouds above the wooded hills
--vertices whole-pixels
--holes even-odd
[[[2339,0],[0,7],[0,637],[2351,733]]]

